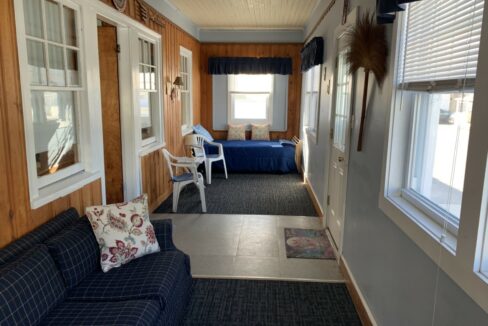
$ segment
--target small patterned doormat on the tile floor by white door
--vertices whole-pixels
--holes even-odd
[[[325,230],[285,228],[287,258],[335,259]]]

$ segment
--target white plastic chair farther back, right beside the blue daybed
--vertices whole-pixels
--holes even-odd
[[[217,146],[218,154],[206,154],[205,143],[212,146]],[[192,149],[194,157],[204,159],[207,184],[212,184],[212,163],[217,161],[223,162],[225,178],[228,179],[227,165],[225,164],[224,148],[222,147],[222,144],[211,142],[202,135],[191,134],[185,137],[185,145]]]

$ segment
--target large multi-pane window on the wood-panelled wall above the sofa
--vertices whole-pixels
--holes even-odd
[[[15,10],[31,206],[36,208],[75,183],[89,182],[80,174],[90,169],[81,17],[79,6],[68,0],[16,1]]]

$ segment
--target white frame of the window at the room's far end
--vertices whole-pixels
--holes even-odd
[[[274,87],[275,87],[275,76],[270,75],[272,78],[271,81],[271,91],[269,92],[243,92],[243,91],[235,91],[234,90],[234,76],[238,75],[228,75],[227,78],[227,87],[228,87],[228,112],[227,112],[227,120],[229,124],[245,124],[246,129],[250,129],[251,124],[269,124],[270,126],[273,124],[273,95],[274,95]],[[235,119],[234,118],[234,101],[232,98],[235,95],[267,95],[267,103],[266,103],[266,119]]]

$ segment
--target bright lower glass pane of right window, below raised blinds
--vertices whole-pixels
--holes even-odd
[[[459,219],[473,93],[417,95],[410,187]]]

